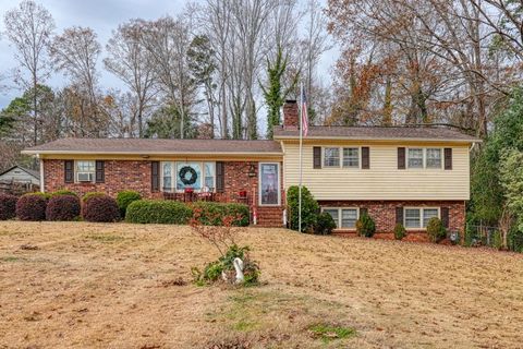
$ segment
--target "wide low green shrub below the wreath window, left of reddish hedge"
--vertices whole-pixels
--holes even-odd
[[[170,200],[137,200],[127,206],[125,220],[141,224],[185,225],[193,216],[186,205]]]

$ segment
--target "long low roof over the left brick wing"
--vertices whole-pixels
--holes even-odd
[[[62,139],[25,154],[281,154],[279,142],[236,140]]]

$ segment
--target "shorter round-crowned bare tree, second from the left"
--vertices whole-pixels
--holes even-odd
[[[82,113],[82,136],[101,136],[107,123],[97,93],[96,63],[100,52],[101,46],[93,29],[80,26],[66,28],[56,36],[50,48],[56,70],[68,75],[75,86]],[[89,129],[85,128],[87,124]]]

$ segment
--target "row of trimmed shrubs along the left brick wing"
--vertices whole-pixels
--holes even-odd
[[[17,198],[0,195],[0,219],[17,217],[20,220],[77,220],[117,221],[125,217],[129,222],[185,225],[192,217],[202,225],[221,226],[223,217],[232,217],[232,225],[248,226],[248,206],[196,202],[191,205],[166,200],[141,200],[137,192],[124,191],[117,200],[99,192],[81,198],[71,191],[29,193]]]

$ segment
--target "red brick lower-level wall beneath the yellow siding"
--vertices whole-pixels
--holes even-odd
[[[449,230],[463,232],[465,228],[465,202],[463,201],[320,201],[323,207],[366,207],[376,222],[377,232],[393,232],[396,207],[449,207]],[[425,230],[422,230],[425,231]],[[414,232],[409,230],[409,232]]]

